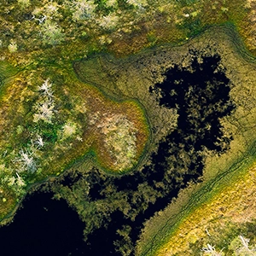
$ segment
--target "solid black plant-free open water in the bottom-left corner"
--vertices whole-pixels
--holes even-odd
[[[52,196],[30,196],[17,212],[15,222],[0,228],[0,255],[75,255],[76,248],[84,243],[84,224],[66,201],[51,200]]]

